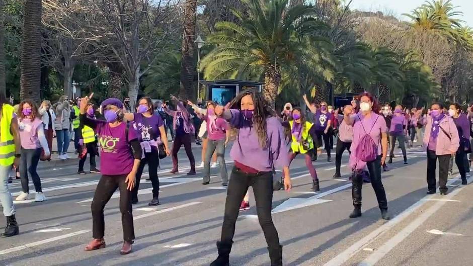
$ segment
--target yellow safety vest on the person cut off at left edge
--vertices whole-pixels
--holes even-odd
[[[2,106],[2,120],[0,121],[0,165],[10,166],[15,160],[15,141],[10,125],[12,124],[15,109],[8,104]]]

